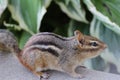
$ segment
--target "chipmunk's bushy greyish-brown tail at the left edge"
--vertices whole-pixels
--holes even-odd
[[[20,55],[21,50],[15,36],[8,30],[0,29],[0,51]]]

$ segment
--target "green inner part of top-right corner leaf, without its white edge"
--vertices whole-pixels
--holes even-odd
[[[120,26],[120,0],[91,0],[96,9]]]

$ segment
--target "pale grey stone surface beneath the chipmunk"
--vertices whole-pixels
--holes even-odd
[[[75,79],[62,72],[49,71],[49,80],[120,80],[120,75],[116,74],[83,68],[79,68],[78,71],[85,78]],[[0,80],[39,80],[39,78],[22,66],[12,54],[0,53]]]

